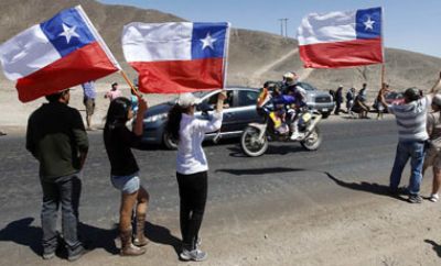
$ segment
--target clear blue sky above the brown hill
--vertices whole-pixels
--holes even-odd
[[[193,22],[228,21],[234,27],[280,34],[279,19],[288,19],[288,36],[295,37],[304,15],[383,7],[386,47],[441,57],[440,0],[99,0],[172,13]]]

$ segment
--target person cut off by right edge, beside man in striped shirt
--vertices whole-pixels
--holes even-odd
[[[441,95],[435,95],[433,97],[432,110],[433,112],[429,112],[427,118],[429,145],[422,166],[422,176],[424,176],[426,170],[432,166],[433,182],[429,200],[437,202],[439,200],[438,191],[441,186]]]

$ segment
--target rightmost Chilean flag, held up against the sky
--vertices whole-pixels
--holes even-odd
[[[304,67],[338,68],[384,62],[381,8],[311,13],[298,30]]]

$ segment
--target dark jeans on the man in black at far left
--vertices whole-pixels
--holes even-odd
[[[41,212],[44,253],[55,252],[57,246],[56,220],[62,207],[62,229],[68,254],[80,247],[78,240],[78,203],[82,180],[77,175],[47,180],[41,178],[43,208]]]

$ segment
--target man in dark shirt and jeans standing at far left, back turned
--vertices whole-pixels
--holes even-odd
[[[43,188],[43,258],[55,256],[56,220],[61,206],[67,259],[76,261],[85,253],[77,231],[82,190],[78,173],[86,160],[88,140],[78,110],[67,106],[71,99],[68,89],[46,96],[46,99],[49,103],[31,114],[26,131],[26,149],[40,163]]]

